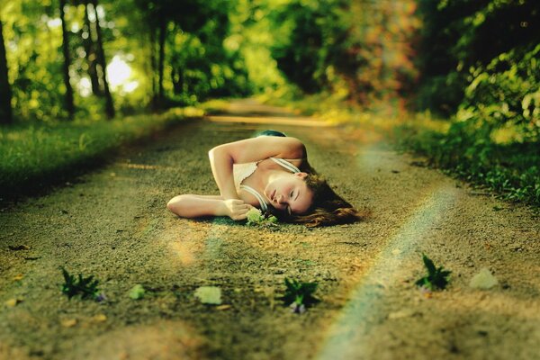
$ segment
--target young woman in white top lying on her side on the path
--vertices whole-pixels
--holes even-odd
[[[284,222],[307,226],[361,220],[362,215],[317,175],[299,139],[266,130],[257,138],[229,142],[209,152],[220,196],[183,194],[167,208],[183,218],[229,216],[244,220],[256,207]]]

